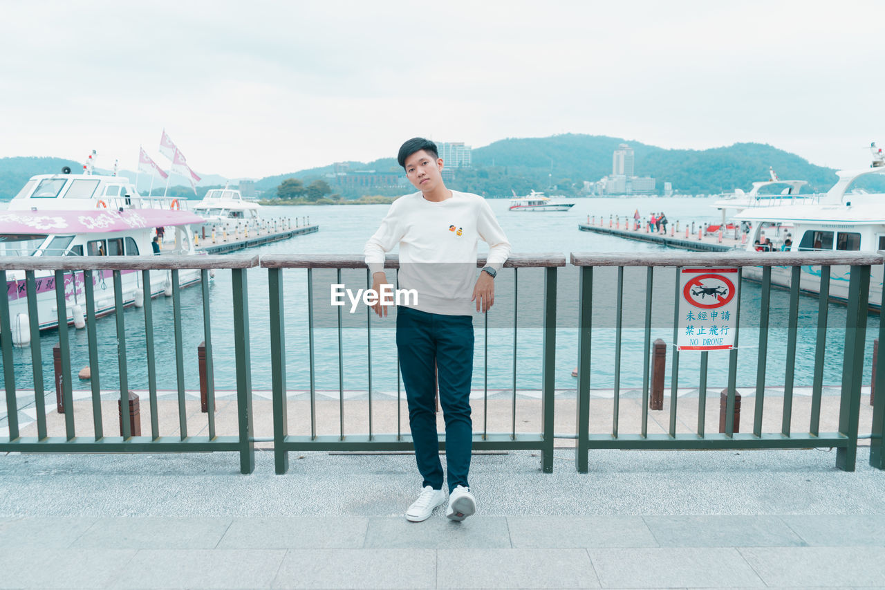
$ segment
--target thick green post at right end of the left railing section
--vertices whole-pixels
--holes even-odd
[[[231,270],[234,291],[234,350],[236,358],[236,407],[240,437],[240,472],[255,470],[252,429],[252,372],[249,343],[249,294],[246,269]]]

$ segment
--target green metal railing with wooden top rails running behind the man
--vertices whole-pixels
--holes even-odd
[[[806,447],[835,447],[837,449],[836,465],[843,470],[853,470],[856,462],[858,437],[868,438],[871,441],[870,462],[880,469],[885,469],[885,457],[882,454],[881,435],[883,430],[883,408],[885,408],[885,379],[880,379],[875,387],[875,405],[873,407],[873,423],[871,433],[866,436],[858,434],[858,420],[860,408],[860,379],[863,373],[864,346],[866,338],[867,297],[870,283],[870,271],[873,265],[881,265],[883,257],[879,254],[858,253],[766,253],[755,255],[742,252],[723,253],[625,253],[625,254],[581,254],[573,253],[571,256],[571,268],[577,273],[577,283],[574,291],[562,290],[561,276],[558,270],[566,267],[566,260],[561,255],[536,255],[536,256],[513,256],[507,261],[505,269],[499,274],[499,278],[507,274],[512,276],[512,292],[508,297],[512,298],[512,429],[504,432],[489,431],[488,406],[489,406],[489,314],[484,317],[484,326],[481,333],[477,334],[477,342],[482,338],[482,350],[485,353],[486,375],[483,379],[483,423],[474,426],[473,447],[477,450],[515,450],[530,449],[540,451],[542,469],[550,472],[553,467],[554,439],[576,440],[576,468],[581,472],[588,470],[588,454],[590,449],[596,448],[621,448],[621,449],[722,449],[722,448],[806,448]],[[482,266],[484,260],[479,260],[477,266]],[[802,266],[820,265],[821,267],[821,290],[820,305],[817,314],[817,341],[815,347],[814,375],[812,385],[812,409],[807,432],[793,431],[791,424],[795,359],[797,353],[797,310],[800,297],[800,268]],[[826,355],[826,336],[828,321],[828,285],[830,270],[832,267],[850,267],[850,289],[848,307],[845,321],[844,347],[842,353],[842,383],[839,395],[838,428],[831,432],[820,432],[820,417],[822,411],[821,398],[823,389],[823,365]],[[247,275],[248,269],[259,266],[258,256],[201,256],[201,257],[38,257],[38,258],[0,258],[0,280],[7,279],[7,271],[18,270],[25,272],[27,283],[27,309],[32,334],[31,340],[31,363],[34,372],[36,430],[34,437],[22,437],[19,432],[17,419],[17,397],[15,372],[12,366],[12,338],[11,318],[9,301],[0,298],[0,350],[4,358],[4,387],[6,409],[8,416],[9,439],[0,441],[0,451],[20,452],[182,452],[182,451],[235,451],[240,454],[241,470],[250,473],[254,470],[254,444],[256,437],[253,427],[252,409],[252,379],[251,379],[251,349],[250,345],[250,320],[248,306]],[[699,353],[700,370],[697,383],[697,426],[695,431],[680,432],[677,421],[681,417],[679,408],[683,408],[685,402],[680,400],[678,389],[680,384],[681,358],[678,350],[673,350],[671,386],[669,395],[669,423],[666,432],[652,433],[649,431],[649,377],[650,377],[650,334],[652,315],[652,293],[655,284],[655,271],[658,268],[684,268],[684,267],[722,267],[735,268],[762,267],[761,299],[759,309],[743,310],[745,314],[758,314],[758,351],[755,399],[752,432],[735,432],[733,418],[735,415],[735,395],[737,392],[737,361],[738,354],[742,350],[751,348],[736,347],[728,353],[727,367],[727,410],[726,428],[723,432],[710,433],[705,431],[704,416],[706,414],[706,392],[708,387],[708,361],[709,353]],[[266,268],[268,280],[267,302],[269,306],[269,361],[271,367],[272,411],[273,411],[273,442],[274,463],[277,473],[288,470],[289,451],[303,450],[338,450],[338,451],[381,451],[381,450],[411,450],[411,436],[403,432],[401,417],[397,415],[396,431],[378,432],[373,424],[373,337],[371,310],[366,308],[366,391],[367,399],[367,424],[368,429],[363,433],[351,433],[344,427],[344,361],[342,357],[342,314],[337,312],[337,353],[339,369],[339,397],[338,397],[338,433],[321,433],[317,425],[317,387],[315,384],[314,364],[314,271],[329,269],[335,272],[339,283],[341,282],[342,270],[351,273],[366,272],[366,287],[371,286],[371,276],[365,270],[365,264],[361,256],[287,256],[265,255],[260,259],[260,267]],[[398,268],[395,257],[389,257],[387,268]],[[777,431],[764,431],[763,410],[766,401],[766,356],[767,338],[769,333],[770,298],[772,292],[773,267],[792,268],[793,281],[789,290],[789,321],[787,337],[787,359],[784,375],[784,393],[781,409],[781,424]],[[206,345],[207,374],[209,378],[209,404],[208,412],[208,435],[191,436],[187,414],[185,411],[185,385],[184,385],[184,353],[182,342],[182,311],[180,300],[180,277],[179,272],[183,269],[199,269],[199,284],[202,291],[203,331]],[[543,274],[543,288],[531,290],[537,298],[531,306],[519,310],[519,270],[523,268],[536,268]],[[597,285],[594,291],[594,273],[603,272],[604,268],[613,268],[617,271],[617,279],[611,286],[607,286],[605,295],[613,295],[616,301],[612,325],[610,328],[614,335],[613,342],[613,388],[611,401],[612,428],[607,432],[591,432],[589,427],[591,419],[591,393],[590,386],[594,380],[591,368],[593,346],[592,314],[594,296],[599,294]],[[643,322],[643,354],[640,358],[635,356],[628,359],[634,364],[642,364],[642,416],[636,431],[625,432],[620,424],[621,399],[621,372],[625,359],[621,354],[623,343],[624,326],[622,322],[623,299],[625,294],[625,268],[645,268],[645,295]],[[101,388],[98,380],[99,359],[97,353],[96,337],[96,308],[95,294],[92,292],[91,273],[96,270],[113,271],[113,291],[116,301],[115,316],[117,339],[118,365],[119,365],[119,393],[121,408],[127,407],[128,381],[127,381],[127,327],[124,314],[123,291],[121,286],[120,272],[123,270],[141,271],[142,284],[146,296],[143,301],[144,315],[144,351],[148,363],[148,390],[150,396],[151,432],[150,436],[132,436],[127,420],[122,420],[121,436],[107,436],[107,430],[102,423],[101,415]],[[154,319],[151,314],[150,296],[150,269],[164,269],[172,274],[172,302],[173,318],[172,330],[174,331],[175,349],[175,373],[177,383],[178,402],[178,434],[175,436],[163,435],[159,429],[157,420],[157,367],[155,366],[155,343],[154,343]],[[237,427],[235,436],[218,436],[214,423],[214,390],[212,383],[212,322],[210,321],[209,301],[209,272],[212,269],[229,270],[231,273],[231,303],[226,304],[233,308],[233,338],[225,345],[233,347],[235,359],[235,390],[237,407]],[[287,291],[291,289],[291,279],[296,277],[296,270],[306,275],[307,305],[301,303],[292,307]],[[78,435],[75,428],[74,404],[70,376],[71,350],[68,338],[67,322],[61,322],[58,329],[58,343],[61,348],[62,371],[67,377],[62,381],[65,414],[65,436],[47,436],[45,422],[45,393],[46,387],[42,377],[42,350],[38,334],[37,315],[37,292],[35,289],[35,272],[50,270],[54,273],[57,284],[65,284],[65,273],[70,271],[83,272],[86,295],[86,325],[88,331],[89,368],[94,376],[91,379],[91,404],[93,414],[93,427],[88,435]],[[258,272],[258,271],[253,271]],[[286,278],[289,278],[287,283]],[[678,276],[678,273],[677,273]],[[509,280],[509,279],[508,279]],[[361,282],[361,281],[360,281]],[[502,283],[506,284],[506,283]],[[533,285],[536,286],[536,285]],[[509,287],[508,287],[509,288]],[[669,288],[667,288],[669,289]],[[638,291],[634,288],[633,291]],[[57,290],[56,307],[66,310],[71,302],[65,299],[65,291]],[[677,278],[675,300],[680,297],[679,282]],[[558,299],[560,302],[558,303]],[[289,307],[287,308],[287,302]],[[883,300],[885,304],[885,300]],[[562,308],[567,306],[568,309]],[[571,325],[566,324],[563,328],[563,318],[566,312],[574,306],[577,321]],[[678,306],[673,305],[678,310]],[[883,305],[885,309],[885,305]],[[540,328],[541,358],[540,367],[540,412],[538,430],[535,432],[517,431],[517,331],[519,330],[519,317],[530,314],[538,314],[538,327]],[[493,310],[498,313],[498,310]],[[305,334],[299,334],[299,341],[289,342],[286,338],[287,320],[299,315],[308,316],[308,325]],[[502,315],[502,313],[498,313]],[[558,327],[558,316],[560,319]],[[676,327],[679,325],[675,313],[673,316],[673,340],[677,338]],[[509,320],[508,320],[509,322]],[[335,322],[333,322],[335,323]],[[558,332],[561,333],[558,335]],[[520,336],[524,336],[520,332]],[[880,336],[885,338],[885,322],[880,322]],[[578,382],[575,391],[575,430],[573,433],[554,432],[555,418],[555,394],[556,381],[554,371],[557,362],[558,344],[563,340],[574,338],[576,340],[576,360],[578,361]],[[742,338],[743,339],[743,338]],[[559,340],[559,343],[558,343]],[[883,340],[885,341],[885,340]],[[537,343],[535,343],[537,344]],[[735,346],[738,342],[735,339]],[[598,347],[598,345],[597,345]],[[310,430],[301,433],[289,432],[289,397],[292,389],[287,383],[287,353],[289,359],[294,354],[306,358],[309,364],[310,377],[305,383],[299,383],[305,387],[309,395]],[[885,356],[885,355],[882,355]],[[880,375],[885,375],[885,359],[878,359],[877,370]],[[608,357],[606,357],[607,359]],[[638,362],[637,362],[638,361]],[[397,371],[397,396],[396,412],[400,412],[400,400],[402,392],[398,380]],[[327,430],[327,429],[326,429]],[[442,443],[444,446],[444,442]]]

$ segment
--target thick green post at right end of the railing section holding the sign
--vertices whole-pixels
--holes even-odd
[[[851,267],[842,365],[842,400],[839,408],[839,433],[848,437],[848,446],[837,448],[835,454],[835,466],[843,471],[854,470],[858,455],[860,382],[864,373],[869,288],[870,267]]]

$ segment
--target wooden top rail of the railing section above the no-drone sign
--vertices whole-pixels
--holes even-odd
[[[572,252],[576,267],[860,267],[881,264],[879,252]]]

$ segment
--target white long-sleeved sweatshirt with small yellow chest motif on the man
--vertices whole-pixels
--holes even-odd
[[[418,291],[408,307],[431,314],[470,315],[477,279],[476,245],[489,244],[488,264],[496,270],[510,255],[510,243],[486,199],[451,191],[451,198],[428,201],[420,192],[397,198],[381,227],[366,242],[366,265],[384,270],[384,253],[399,244],[399,288]]]

